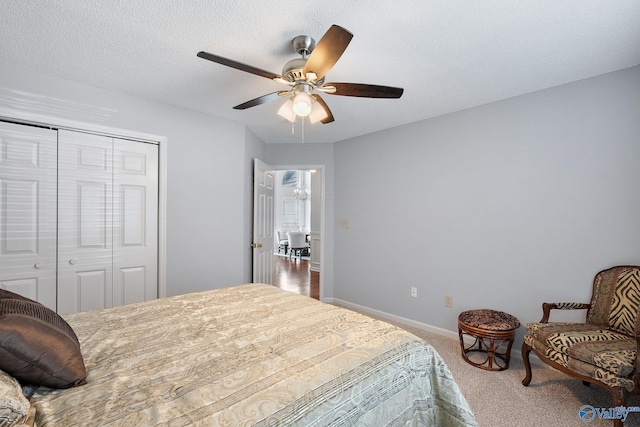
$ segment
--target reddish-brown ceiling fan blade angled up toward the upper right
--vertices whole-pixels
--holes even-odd
[[[304,74],[312,72],[316,74],[318,80],[322,79],[340,59],[352,38],[353,34],[349,31],[338,25],[332,25],[309,55],[304,66]]]

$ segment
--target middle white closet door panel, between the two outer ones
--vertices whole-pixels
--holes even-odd
[[[113,142],[58,134],[58,313],[113,306]]]

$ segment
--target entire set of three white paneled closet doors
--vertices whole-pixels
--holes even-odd
[[[69,314],[158,297],[158,146],[0,122],[0,288]]]

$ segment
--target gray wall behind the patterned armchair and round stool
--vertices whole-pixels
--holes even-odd
[[[587,302],[601,269],[640,264],[640,67],[334,152],[339,300],[450,331],[471,308],[524,323],[543,301]]]

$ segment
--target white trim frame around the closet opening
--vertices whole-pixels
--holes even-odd
[[[0,120],[50,129],[66,129],[112,138],[132,139],[158,145],[158,298],[167,296],[167,137],[150,133],[85,123],[60,117],[25,119],[13,110],[0,108]]]

